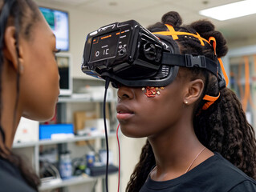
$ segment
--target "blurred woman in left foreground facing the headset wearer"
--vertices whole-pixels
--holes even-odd
[[[55,113],[55,35],[33,0],[0,0],[0,25],[0,191],[38,191],[39,178],[11,146],[21,117]]]

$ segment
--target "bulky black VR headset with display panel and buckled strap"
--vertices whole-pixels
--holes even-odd
[[[177,42],[161,33],[152,34],[134,20],[100,27],[87,35],[82,71],[110,79],[112,86],[167,86],[180,66],[200,67],[226,86],[219,63],[203,55],[180,54]]]

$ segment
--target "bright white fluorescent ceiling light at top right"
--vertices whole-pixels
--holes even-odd
[[[220,21],[230,18],[239,18],[249,14],[256,14],[256,1],[245,0],[226,4],[224,6],[216,6],[206,10],[200,10],[199,14],[205,15],[209,18],[215,18]]]

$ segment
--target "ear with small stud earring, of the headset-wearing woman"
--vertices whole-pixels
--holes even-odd
[[[188,84],[188,89],[186,90],[184,103],[186,105],[192,104],[197,101],[198,98],[200,98],[201,93],[204,89],[204,82],[201,79],[196,79]]]

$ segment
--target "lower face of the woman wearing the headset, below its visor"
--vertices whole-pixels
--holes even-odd
[[[123,134],[132,138],[154,136],[180,123],[186,83],[177,76],[154,98],[148,98],[141,88],[121,86],[116,117]]]

